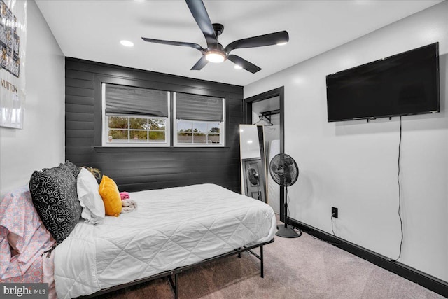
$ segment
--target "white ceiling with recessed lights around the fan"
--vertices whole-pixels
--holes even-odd
[[[67,57],[242,86],[440,2],[204,0],[211,22],[225,27],[218,36],[223,46],[237,39],[288,31],[286,46],[232,51],[262,68],[251,74],[234,69],[230,61],[191,71],[201,57],[198,50],[141,39],[184,41],[207,48],[185,1],[36,0]],[[123,39],[132,41],[134,47],[121,46]]]

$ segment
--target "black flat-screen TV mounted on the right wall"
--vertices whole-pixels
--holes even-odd
[[[326,76],[328,122],[440,111],[439,43]]]

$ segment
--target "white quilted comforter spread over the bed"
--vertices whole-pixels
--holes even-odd
[[[243,245],[276,232],[269,205],[213,184],[130,193],[137,211],[78,223],[56,247],[59,299],[87,295]]]

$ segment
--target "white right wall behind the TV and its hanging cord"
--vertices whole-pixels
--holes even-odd
[[[437,114],[402,118],[400,262],[448,281],[448,1],[244,87],[244,97],[285,86],[285,152],[300,177],[290,216],[398,258],[399,119],[327,122],[325,75],[440,42]]]

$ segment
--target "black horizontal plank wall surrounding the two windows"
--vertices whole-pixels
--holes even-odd
[[[102,147],[102,83],[224,97],[225,147]],[[66,57],[65,157],[78,167],[97,167],[121,191],[216,183],[240,193],[240,123],[241,86]]]

